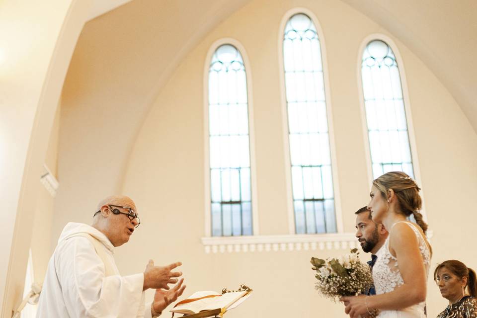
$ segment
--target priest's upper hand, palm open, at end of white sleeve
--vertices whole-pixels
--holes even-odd
[[[144,271],[143,291],[149,288],[169,290],[168,284],[177,283],[177,279],[174,277],[182,276],[182,272],[172,272],[174,268],[180,265],[182,265],[181,262],[167,266],[154,266],[154,261],[150,259]]]

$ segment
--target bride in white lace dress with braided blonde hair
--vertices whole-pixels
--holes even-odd
[[[351,318],[379,310],[380,318],[424,318],[426,283],[431,246],[425,237],[427,224],[418,212],[421,197],[416,182],[400,171],[373,181],[368,209],[373,221],[390,233],[373,267],[376,296],[343,297]],[[416,223],[407,217],[413,215]]]

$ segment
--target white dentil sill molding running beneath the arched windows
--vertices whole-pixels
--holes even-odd
[[[432,231],[427,238],[431,239]],[[209,253],[269,252],[293,250],[349,249],[359,247],[354,233],[329,233],[318,235],[270,235],[243,237],[206,237],[201,239]]]

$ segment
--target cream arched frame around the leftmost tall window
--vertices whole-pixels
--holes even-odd
[[[232,237],[212,237],[212,203],[211,203],[211,180],[210,180],[210,145],[209,145],[209,68],[210,62],[215,51],[224,44],[230,44],[239,51],[243,65],[245,67],[245,78],[247,81],[247,106],[248,106],[248,140],[249,140],[249,156],[250,156],[250,190],[251,190],[251,207],[252,207],[252,236],[259,234],[258,225],[258,195],[257,195],[257,174],[256,174],[256,160],[255,160],[255,129],[253,120],[253,103],[252,103],[252,84],[251,84],[251,67],[248,60],[248,55],[243,45],[233,38],[221,38],[212,43],[207,52],[204,63],[203,76],[203,104],[204,104],[204,181],[205,181],[205,238],[238,238],[249,236],[232,236]]]

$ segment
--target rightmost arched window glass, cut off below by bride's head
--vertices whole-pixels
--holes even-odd
[[[397,170],[414,177],[399,69],[387,43],[368,43],[361,77],[373,178]]]

